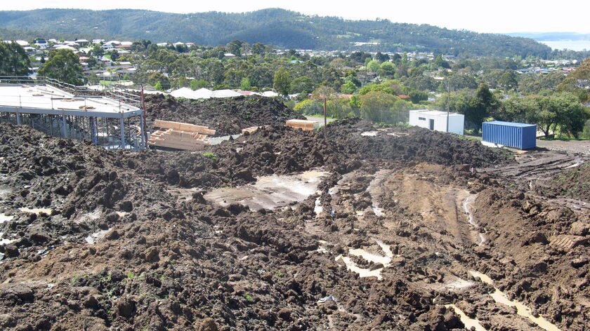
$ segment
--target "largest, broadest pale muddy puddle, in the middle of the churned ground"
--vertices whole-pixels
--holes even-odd
[[[204,198],[223,207],[240,203],[250,210],[274,209],[303,201],[314,194],[317,184],[327,174],[325,171],[310,170],[296,175],[262,176],[256,179],[255,184],[214,189]]]

